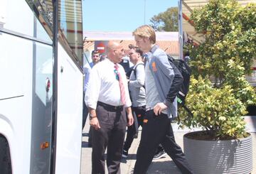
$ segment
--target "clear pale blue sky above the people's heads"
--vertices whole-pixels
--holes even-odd
[[[82,0],[83,31],[134,31],[171,6],[178,0]]]

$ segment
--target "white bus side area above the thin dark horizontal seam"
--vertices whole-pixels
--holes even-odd
[[[29,40],[0,33],[0,99],[21,97],[27,87],[32,89],[32,48]]]

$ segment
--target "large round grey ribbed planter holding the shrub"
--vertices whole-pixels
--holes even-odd
[[[188,133],[191,134],[191,133]],[[184,153],[196,174],[252,171],[252,136],[238,140],[202,141],[183,136]]]

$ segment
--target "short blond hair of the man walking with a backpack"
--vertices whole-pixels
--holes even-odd
[[[149,38],[151,43],[156,43],[156,33],[154,28],[148,25],[139,26],[134,32],[132,32],[132,36],[139,36],[141,38]]]

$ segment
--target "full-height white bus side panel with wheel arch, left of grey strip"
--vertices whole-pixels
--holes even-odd
[[[30,168],[32,49],[31,40],[0,33],[0,134],[9,142],[14,174]]]

